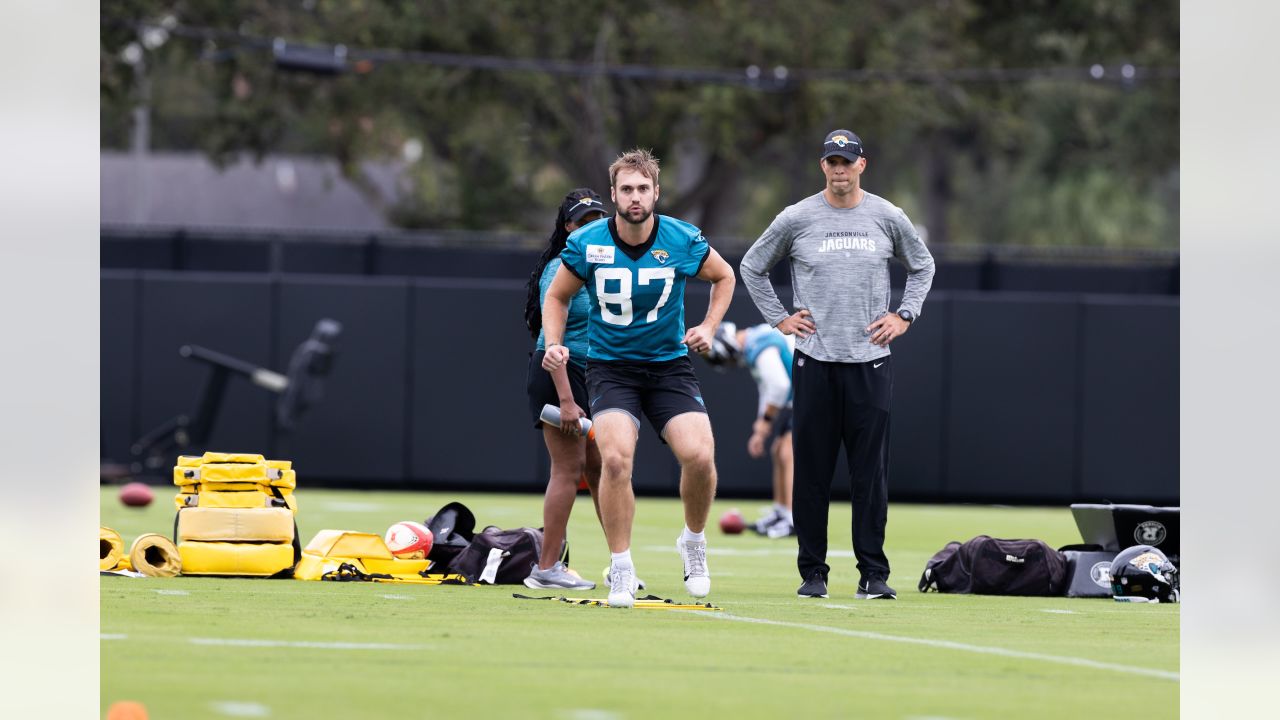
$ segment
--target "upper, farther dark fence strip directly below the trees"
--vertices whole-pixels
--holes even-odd
[[[330,233],[108,227],[104,269],[288,272],[524,281],[541,251],[536,237],[477,232]],[[721,247],[735,268],[745,250]],[[934,249],[934,290],[1178,295],[1175,254],[1016,246]],[[891,264],[895,287],[905,270]],[[791,283],[787,263],[774,269]]]

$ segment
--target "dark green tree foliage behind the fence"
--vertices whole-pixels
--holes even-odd
[[[102,13],[104,146],[127,142],[146,87],[154,147],[198,147],[216,161],[328,155],[406,227],[544,229],[567,188],[607,190],[609,161],[644,146],[664,163],[664,211],[749,241],[820,188],[822,136],[849,127],[869,149],[864,186],[934,241],[1178,242],[1176,77],[1055,74],[1176,68],[1176,5],[120,0]],[[124,49],[138,42],[138,23],[170,35],[131,65]],[[320,76],[276,67],[261,42],[275,37],[744,78],[755,67],[760,79],[495,70],[387,54],[348,63],[362,72]],[[1033,72],[978,82],[922,73],[961,68]],[[399,167],[399,192],[385,196],[365,177],[369,160]]]

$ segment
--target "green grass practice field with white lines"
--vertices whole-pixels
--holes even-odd
[[[156,488],[146,509],[124,507],[116,489],[102,489],[101,521],[125,548],[145,532],[172,534],[169,488]],[[381,534],[451,500],[471,507],[481,527],[541,524],[541,498],[531,495],[303,484],[298,527],[303,544],[324,528]],[[832,507],[827,600],[796,598],[794,538],[724,536],[716,527],[731,506],[754,520],[758,505],[712,509],[707,600],[723,612],[513,600],[512,592],[554,594],[524,585],[104,577],[102,711],[137,700],[152,719],[1044,719],[1105,714],[1105,698],[1123,697],[1147,715],[1178,712],[1176,605],[915,589],[925,561],[952,539],[1079,542],[1065,507],[895,505],[887,552],[899,600],[858,601],[847,502]],[[678,500],[641,498],[632,556],[646,592],[689,601],[675,550],[681,524]],[[603,598],[608,551],[585,495],[570,538],[573,568],[598,587],[561,594]]]

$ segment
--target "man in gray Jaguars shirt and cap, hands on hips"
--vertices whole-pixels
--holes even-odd
[[[751,300],[771,324],[795,333],[795,489],[800,597],[827,597],[827,515],[841,443],[854,505],[858,598],[896,598],[888,585],[888,430],[893,363],[888,346],[919,318],[933,256],[901,209],[861,188],[867,158],[847,129],[827,135],[819,163],[827,187],[782,210],[742,258]],[[778,301],[769,270],[791,260],[795,313]],[[888,261],[906,266],[902,302],[890,307]]]

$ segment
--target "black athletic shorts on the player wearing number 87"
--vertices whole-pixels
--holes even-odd
[[[591,416],[621,410],[640,429],[640,415],[662,429],[676,415],[707,413],[703,388],[689,356],[662,363],[588,360],[586,387],[591,396]]]

